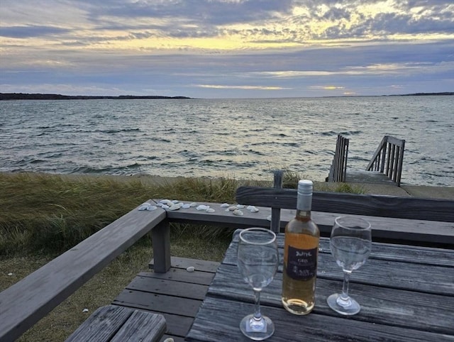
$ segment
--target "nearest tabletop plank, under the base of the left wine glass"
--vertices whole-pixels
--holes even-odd
[[[207,297],[194,320],[187,341],[250,341],[240,332],[240,319],[254,311],[253,304]],[[370,322],[312,313],[307,316],[289,314],[282,308],[262,307],[279,326],[270,342],[288,341],[453,341],[452,335],[405,329]],[[216,320],[212,319],[216,316]],[[219,325],[238,327],[219,329]]]

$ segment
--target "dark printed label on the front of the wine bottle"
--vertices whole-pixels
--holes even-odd
[[[294,280],[309,280],[317,272],[317,248],[298,249],[289,246],[287,275]]]

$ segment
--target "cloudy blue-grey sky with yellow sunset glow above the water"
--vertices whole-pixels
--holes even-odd
[[[454,92],[454,1],[1,0],[0,92]]]

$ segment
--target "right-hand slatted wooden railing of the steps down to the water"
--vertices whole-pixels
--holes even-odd
[[[381,172],[400,187],[404,147],[405,140],[384,136],[367,165],[366,171]]]

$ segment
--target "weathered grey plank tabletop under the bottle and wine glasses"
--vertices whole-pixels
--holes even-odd
[[[342,270],[334,262],[329,239],[321,238],[316,307],[307,316],[283,309],[282,253],[275,280],[263,289],[262,313],[275,322],[267,341],[454,341],[454,250],[373,243],[367,263],[350,277],[350,295],[361,311],[342,316],[326,298],[342,289]],[[253,291],[236,266],[238,231],[196,314],[186,341],[250,341],[240,319],[254,311]]]

